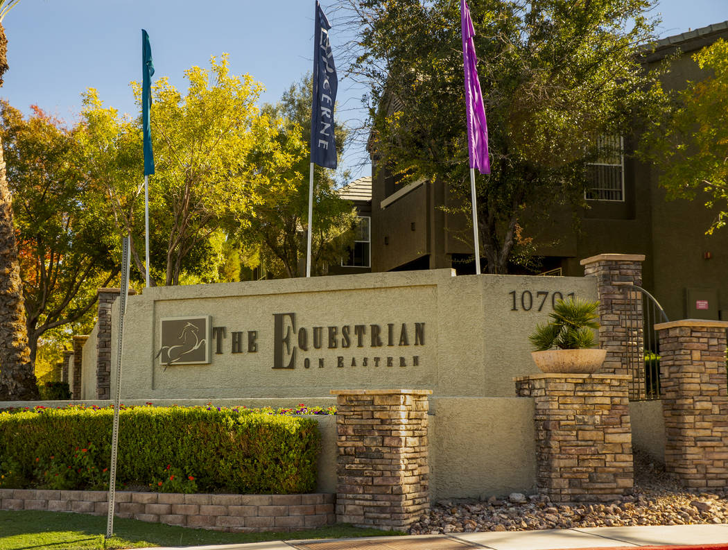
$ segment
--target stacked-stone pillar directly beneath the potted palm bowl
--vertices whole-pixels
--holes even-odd
[[[532,374],[537,490],[555,503],[606,502],[634,484],[628,381],[615,374]]]

